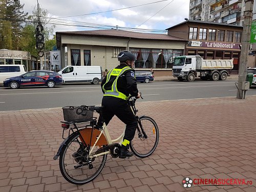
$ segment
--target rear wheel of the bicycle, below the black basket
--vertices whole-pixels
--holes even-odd
[[[95,146],[92,153],[98,149],[99,147]],[[89,150],[83,146],[79,133],[74,133],[63,146],[59,157],[60,172],[68,182],[82,185],[94,180],[100,174],[107,155],[88,159],[88,154]]]

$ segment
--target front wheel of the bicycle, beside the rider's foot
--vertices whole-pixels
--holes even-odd
[[[151,117],[140,117],[140,121],[142,125],[140,131],[143,129],[147,138],[143,134],[139,134],[137,130],[130,147],[137,157],[144,158],[150,156],[156,150],[159,141],[159,130],[157,123]]]

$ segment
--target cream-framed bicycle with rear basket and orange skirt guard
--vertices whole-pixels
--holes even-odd
[[[135,156],[145,158],[156,150],[159,130],[151,117],[136,115],[138,110],[135,102],[136,98],[130,97],[129,104],[139,125],[130,148]],[[103,169],[108,154],[113,158],[119,157],[124,131],[117,139],[112,140],[105,122],[102,126],[97,125],[97,117],[93,117],[93,113],[101,114],[102,108],[103,106],[86,105],[62,108],[65,120],[61,121],[64,141],[53,159],[57,160],[59,157],[60,172],[70,183],[82,185],[94,180]],[[77,125],[84,122],[88,124]],[[68,137],[64,138],[67,130]]]

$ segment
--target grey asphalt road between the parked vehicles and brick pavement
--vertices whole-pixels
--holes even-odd
[[[236,97],[236,80],[179,82],[153,81],[138,83],[144,99],[138,102]],[[246,95],[256,95],[256,87]],[[27,87],[17,90],[0,87],[0,111],[61,108],[67,105],[99,105],[102,92],[100,84],[65,84],[53,89],[47,87]]]

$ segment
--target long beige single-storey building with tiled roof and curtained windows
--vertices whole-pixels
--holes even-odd
[[[155,68],[169,71],[167,75],[172,75],[172,61],[184,54],[187,43],[186,39],[172,35],[117,29],[57,32],[56,40],[62,67],[92,65],[109,71],[118,65],[118,53],[130,50],[137,57],[137,70]]]

